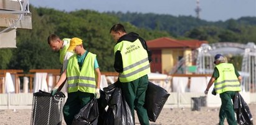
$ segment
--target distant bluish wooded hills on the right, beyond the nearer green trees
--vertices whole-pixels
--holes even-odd
[[[234,20],[208,22],[192,16],[166,14],[142,14],[137,12],[106,12],[115,15],[123,22],[130,22],[138,28],[166,31],[175,38],[206,40],[209,43],[230,41],[255,43],[256,17],[241,17]]]

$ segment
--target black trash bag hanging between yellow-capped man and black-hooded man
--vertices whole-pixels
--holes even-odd
[[[118,82],[103,88],[106,94],[108,110],[105,115],[104,125],[133,125],[131,109],[121,94]]]

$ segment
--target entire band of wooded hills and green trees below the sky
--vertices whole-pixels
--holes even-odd
[[[109,30],[112,25],[125,25],[126,32],[139,33],[145,40],[159,37],[206,40],[209,43],[231,41],[255,43],[256,18],[242,17],[225,22],[207,22],[191,16],[140,14],[126,12],[97,12],[77,10],[57,11],[30,7],[32,30],[17,30],[17,48],[0,49],[0,69],[59,69],[59,53],[50,50],[47,37],[78,37],[88,51],[97,54],[101,71],[114,71],[113,48]]]

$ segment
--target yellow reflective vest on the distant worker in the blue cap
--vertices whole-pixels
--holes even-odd
[[[237,79],[237,75],[235,75],[233,64],[220,63],[216,67],[219,71],[219,77],[214,81],[216,93],[241,91],[240,82]]]

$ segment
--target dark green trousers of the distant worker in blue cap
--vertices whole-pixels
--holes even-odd
[[[227,123],[229,125],[237,124],[235,120],[235,111],[233,108],[232,98],[235,96],[235,92],[228,91],[220,93],[221,106],[219,111],[219,124],[224,125],[224,119],[227,117]]]

